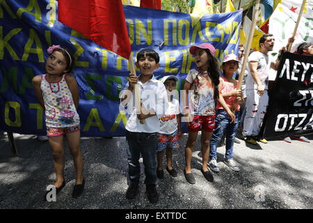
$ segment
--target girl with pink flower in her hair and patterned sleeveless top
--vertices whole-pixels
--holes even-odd
[[[45,109],[47,137],[51,146],[54,169],[56,171],[56,194],[65,186],[64,178],[64,146],[63,136],[66,139],[76,171],[76,184],[72,197],[79,197],[83,192],[83,155],[80,149],[79,89],[75,78],[68,74],[74,67],[74,56],[67,49],[59,45],[48,48],[49,57],[46,61],[45,75],[33,77],[33,88],[40,105]],[[45,200],[51,200],[49,191]]]

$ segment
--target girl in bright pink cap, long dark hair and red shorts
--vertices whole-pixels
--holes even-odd
[[[215,120],[215,100],[218,100],[223,106],[230,119],[234,121],[234,114],[227,107],[223,97],[219,97],[220,75],[218,72],[218,61],[214,57],[216,49],[209,43],[202,43],[198,46],[192,46],[189,52],[195,57],[196,69],[188,72],[184,91],[186,92],[186,101],[188,106],[184,107],[184,120],[187,121],[188,140],[185,148],[185,168],[184,176],[188,183],[195,184],[195,178],[191,172],[191,158],[193,146],[201,132],[201,153],[202,168],[201,172],[208,181],[214,178],[210,173],[207,163],[209,162],[209,141],[214,130]],[[192,91],[190,91],[192,90]]]

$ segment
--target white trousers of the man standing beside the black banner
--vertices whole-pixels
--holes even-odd
[[[268,94],[267,90],[264,91],[262,96],[257,94],[256,89],[246,90],[247,100],[246,100],[246,116],[243,122],[244,136],[247,135],[258,135],[261,123],[263,121],[264,115],[266,113],[266,108],[268,106]]]

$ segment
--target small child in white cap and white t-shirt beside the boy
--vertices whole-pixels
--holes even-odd
[[[173,75],[168,75],[161,79],[168,91],[168,109],[166,115],[159,118],[160,131],[157,134],[157,177],[159,179],[163,179],[164,176],[163,157],[165,153],[167,160],[166,170],[171,176],[177,176],[177,171],[172,167],[172,149],[179,148],[178,139],[182,135],[179,101],[173,95],[177,81],[178,78]]]

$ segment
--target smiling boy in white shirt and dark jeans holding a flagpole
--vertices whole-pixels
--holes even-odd
[[[134,199],[138,194],[138,183],[141,174],[139,163],[143,157],[145,166],[145,185],[150,203],[159,199],[157,193],[156,151],[157,132],[160,130],[159,118],[165,114],[168,106],[168,95],[164,84],[155,79],[153,72],[159,68],[159,54],[153,49],[143,49],[137,54],[136,67],[141,75],[129,74],[128,91],[122,93],[122,106],[127,105],[129,118],[126,124],[127,161],[129,166],[130,185],[126,192],[127,199]],[[133,107],[134,85],[141,88],[141,111]],[[143,123],[143,120],[145,123]]]

